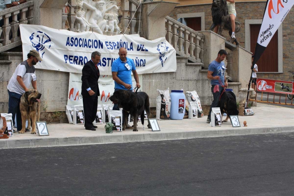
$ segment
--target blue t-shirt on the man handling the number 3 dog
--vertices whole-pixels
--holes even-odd
[[[209,64],[208,66],[208,71],[213,72],[212,76],[220,76],[221,82],[222,84],[220,84],[220,81],[217,80],[211,80],[210,83],[211,85],[224,85],[224,73],[225,73],[225,65],[223,63],[223,61],[221,61],[220,63],[217,61],[213,61]]]

